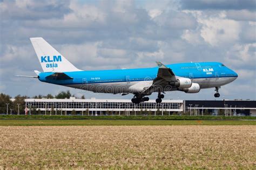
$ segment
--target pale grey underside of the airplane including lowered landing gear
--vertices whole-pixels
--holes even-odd
[[[208,79],[193,79],[193,83],[198,83],[200,89],[206,88],[215,88],[216,93],[214,94],[215,97],[219,97],[218,89],[220,86],[223,86],[227,83],[230,83],[234,80],[233,77],[218,77],[218,78],[208,78]],[[165,91],[183,91],[177,87],[173,87],[167,84],[167,86],[159,86],[156,88],[152,88],[150,91],[146,93],[142,93],[144,88],[147,88],[145,84],[152,84],[153,81],[144,81],[144,84],[141,84],[142,81],[133,81],[133,82],[113,82],[113,83],[90,83],[90,84],[69,84],[65,85],[72,88],[93,91],[94,93],[109,93],[109,94],[134,94],[132,98],[133,103],[145,102],[149,100],[149,96],[154,92],[158,93],[158,98],[156,100],[157,103],[161,102],[161,98],[164,98]],[[133,88],[136,84],[142,85],[142,87]]]

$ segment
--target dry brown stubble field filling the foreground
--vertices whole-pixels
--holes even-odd
[[[1,126],[0,139],[0,169],[256,168],[254,125]]]

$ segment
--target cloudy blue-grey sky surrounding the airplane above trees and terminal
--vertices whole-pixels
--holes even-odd
[[[0,93],[132,98],[95,94],[16,77],[42,71],[30,37],[43,37],[83,70],[223,62],[238,73],[220,100],[256,99],[256,2],[251,0],[0,0]],[[167,93],[165,99],[215,100],[213,89]],[[157,98],[156,94],[150,96]]]

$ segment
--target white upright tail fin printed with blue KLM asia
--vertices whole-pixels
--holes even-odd
[[[44,72],[80,71],[43,38],[30,38]]]

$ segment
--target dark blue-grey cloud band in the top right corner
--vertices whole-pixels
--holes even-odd
[[[181,0],[180,4],[181,8],[190,10],[256,9],[254,0]]]

